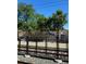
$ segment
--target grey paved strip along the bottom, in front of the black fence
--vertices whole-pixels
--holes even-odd
[[[24,57],[22,55],[17,55],[17,60],[24,61],[26,63],[32,63],[32,64],[59,64],[57,62],[53,62],[52,60],[38,59],[38,57]],[[63,62],[62,64],[69,64],[69,63]]]

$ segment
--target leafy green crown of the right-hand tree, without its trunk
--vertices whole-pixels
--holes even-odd
[[[66,14],[64,14],[61,10],[58,10],[57,13],[52,14],[52,21],[53,29],[58,31],[59,29],[62,29],[67,23]]]

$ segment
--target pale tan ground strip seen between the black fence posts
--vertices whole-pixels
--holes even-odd
[[[47,43],[48,43],[47,47],[49,47],[49,48],[57,48],[57,43],[56,42],[47,42]],[[19,44],[19,42],[17,42],[17,44]],[[22,46],[26,46],[26,42],[25,41],[21,41],[21,44]],[[35,47],[36,42],[29,41],[29,46]],[[38,47],[45,47],[45,46],[46,46],[45,41],[38,42]],[[59,48],[66,49],[66,48],[69,48],[69,43],[59,43]]]

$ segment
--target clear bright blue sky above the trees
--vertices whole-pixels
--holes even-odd
[[[69,0],[17,0],[17,3],[32,4],[36,13],[51,16],[58,9],[69,14]],[[69,16],[67,16],[69,21]],[[69,23],[64,26],[69,29]]]

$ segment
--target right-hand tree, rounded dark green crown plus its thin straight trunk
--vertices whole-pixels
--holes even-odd
[[[57,54],[59,54],[59,30],[67,23],[66,14],[64,14],[61,10],[58,10],[54,14],[52,14],[51,21],[53,30],[57,30]]]

